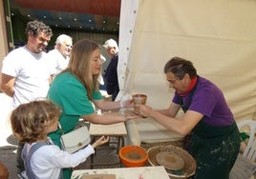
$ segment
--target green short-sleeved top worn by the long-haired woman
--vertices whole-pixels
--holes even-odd
[[[60,73],[54,78],[48,91],[48,98],[62,109],[59,123],[65,133],[75,129],[80,116],[95,112],[92,102],[87,96],[87,89],[68,71]],[[99,90],[93,92],[93,99],[102,99]],[[52,132],[49,136],[55,145],[61,147],[60,129]]]

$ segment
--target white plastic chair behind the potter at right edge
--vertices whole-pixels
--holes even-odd
[[[256,132],[256,121],[252,120],[245,120],[237,124],[238,129],[240,131],[243,131],[242,129],[246,129],[245,131],[249,134],[249,139],[246,144],[245,151],[243,153],[243,156],[247,158],[250,161],[255,162],[256,158],[256,138],[255,138],[255,132]],[[247,131],[247,129],[249,129]]]

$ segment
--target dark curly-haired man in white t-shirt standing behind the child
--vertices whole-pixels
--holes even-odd
[[[27,44],[4,58],[1,71],[1,90],[12,98],[13,108],[38,98],[45,98],[53,78],[51,61],[46,58],[46,47],[53,35],[49,26],[34,20],[27,24]],[[52,69],[51,69],[52,68]],[[18,173],[24,170],[20,153],[23,143],[17,149]]]

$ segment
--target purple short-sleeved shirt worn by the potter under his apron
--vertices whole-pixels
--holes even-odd
[[[175,92],[173,103],[181,104],[181,97]],[[190,104],[190,106],[189,106]],[[234,122],[224,94],[215,84],[199,77],[196,89],[183,97],[183,106],[203,114],[203,122],[216,127],[229,126]]]

